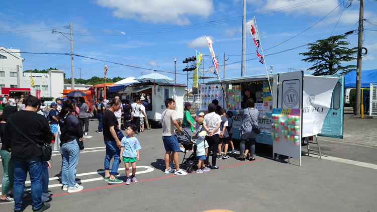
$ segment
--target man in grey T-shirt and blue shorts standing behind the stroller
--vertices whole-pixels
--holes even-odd
[[[173,172],[176,175],[187,175],[182,169],[179,169],[179,144],[177,136],[175,135],[174,126],[178,129],[178,132],[182,132],[177,123],[177,114],[174,110],[175,101],[172,98],[165,100],[166,110],[162,112],[162,141],[165,146],[165,174]],[[174,163],[173,163],[174,160]]]

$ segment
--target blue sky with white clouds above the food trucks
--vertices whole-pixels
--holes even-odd
[[[246,14],[248,19],[256,16],[263,49],[268,49],[303,32],[342,1],[338,0],[248,0]],[[350,2],[350,1],[346,1]],[[297,4],[308,4],[301,7]],[[274,12],[276,9],[291,6],[295,8]],[[270,11],[272,10],[272,11]],[[265,14],[265,11],[274,13]],[[343,12],[344,11],[344,12]],[[352,1],[350,8],[343,4],[330,15],[303,34],[266,50],[271,54],[298,47],[318,39],[356,30],[359,1]],[[342,14],[343,12],[343,14]],[[342,16],[340,17],[340,15]],[[339,19],[340,17],[340,19]],[[210,54],[204,35],[212,38],[215,54],[220,56],[219,64],[241,61],[242,0],[93,0],[93,1],[49,1],[36,4],[32,1],[6,1],[0,10],[0,32],[30,29],[43,29],[33,33],[0,33],[0,46],[21,49],[21,52],[70,53],[70,41],[61,34],[52,34],[48,28],[60,29],[73,24],[74,54],[97,58],[147,69],[155,69],[174,78],[174,57],[177,58],[177,82],[186,83],[182,75],[185,65],[181,62],[186,56],[194,56],[195,50]],[[377,24],[377,1],[365,0],[364,19]],[[223,20],[223,21],[221,21]],[[216,22],[211,22],[216,21]],[[192,29],[182,30],[187,28]],[[364,23],[364,29],[377,30],[375,26]],[[60,31],[69,32],[66,29]],[[158,32],[163,33],[158,33]],[[365,31],[363,46],[368,54],[363,58],[362,69],[376,69],[377,31]],[[357,46],[357,35],[349,35],[349,47]],[[265,58],[267,68],[273,65],[274,72],[287,72],[289,68],[308,71],[312,64],[301,61],[300,52],[306,47],[271,55]],[[255,58],[255,46],[247,32],[246,59]],[[61,55],[22,54],[26,69],[56,67],[71,76],[70,57]],[[356,65],[356,60],[349,64]],[[108,77],[138,77],[150,70],[130,68],[107,63]],[[74,58],[75,78],[92,76],[103,77],[104,62]],[[223,76],[223,67],[219,68]],[[246,75],[263,74],[265,68],[258,60],[246,62]],[[309,72],[310,73],[310,72]],[[212,74],[210,76],[213,76]],[[241,76],[241,63],[226,65],[226,78]]]

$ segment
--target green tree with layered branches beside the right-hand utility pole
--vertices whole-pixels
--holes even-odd
[[[330,36],[327,39],[318,40],[316,43],[309,44],[309,51],[299,53],[307,58],[302,59],[305,62],[314,63],[308,70],[314,70],[313,75],[332,75],[343,74],[355,70],[355,65],[342,66],[342,62],[350,62],[356,58],[352,55],[357,53],[357,47],[347,48],[349,45],[345,35]]]

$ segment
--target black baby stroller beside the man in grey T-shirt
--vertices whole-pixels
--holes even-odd
[[[193,173],[195,166],[198,166],[197,159],[197,145],[192,141],[191,130],[189,127],[182,127],[183,131],[177,133],[177,140],[184,147],[184,156],[182,163],[179,165],[180,169],[186,169],[188,173]],[[191,151],[192,154],[186,158],[186,153]]]

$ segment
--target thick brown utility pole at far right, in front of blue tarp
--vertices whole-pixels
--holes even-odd
[[[360,99],[361,99],[361,65],[362,65],[362,34],[363,34],[363,19],[364,19],[364,0],[360,0],[360,14],[359,14],[359,37],[357,44],[357,71],[356,71],[356,98],[354,115],[360,115]]]

